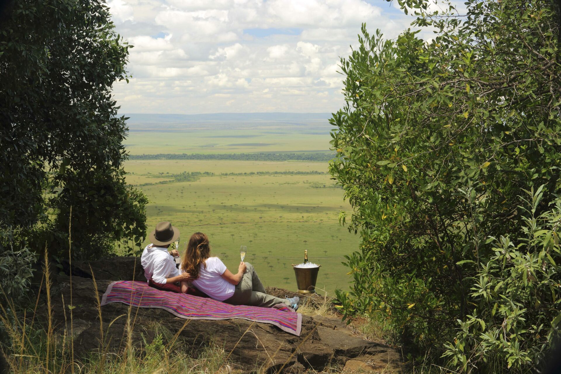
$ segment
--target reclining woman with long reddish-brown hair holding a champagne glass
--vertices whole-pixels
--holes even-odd
[[[255,269],[248,262],[240,262],[238,272],[232,274],[218,257],[210,257],[209,239],[203,233],[194,233],[183,252],[181,269],[192,277],[191,283],[209,297],[233,305],[272,307],[287,304],[298,309],[297,296],[281,299],[265,292]],[[186,293],[188,281],[181,281],[181,291]]]

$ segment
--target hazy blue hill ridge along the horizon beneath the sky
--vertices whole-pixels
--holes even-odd
[[[119,113],[130,117],[128,123],[178,123],[201,121],[327,121],[331,113],[206,113],[206,114],[157,114]]]

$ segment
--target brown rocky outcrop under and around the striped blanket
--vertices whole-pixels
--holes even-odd
[[[98,299],[113,280],[145,280],[140,261],[134,257],[74,262],[72,268],[63,263],[63,271],[54,272],[52,287],[53,321],[58,330],[70,334],[70,309],[76,357],[91,352],[118,352],[131,331],[133,345],[154,337],[156,324],[170,331],[180,331],[178,339],[191,347],[214,343],[228,353],[229,359],[244,372],[302,372],[308,368],[324,370],[338,366],[345,371],[399,371],[401,358],[387,345],[354,336],[338,319],[302,318],[302,333],[294,336],[275,326],[245,320],[185,320],[159,309],[130,308],[112,303],[98,310]],[[91,266],[91,269],[90,269]],[[60,267],[60,266],[59,266]],[[72,296],[70,276],[72,274]],[[95,280],[94,280],[95,278]],[[40,277],[35,287],[39,287]],[[97,295],[96,295],[97,291]],[[271,293],[291,294],[271,289]],[[42,293],[44,294],[44,292]],[[130,318],[128,318],[130,316]],[[43,314],[43,318],[46,316]]]

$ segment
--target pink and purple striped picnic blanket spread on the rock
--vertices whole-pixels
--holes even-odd
[[[300,336],[302,315],[284,304],[274,308],[230,305],[210,298],[160,291],[146,282],[119,280],[109,284],[102,305],[123,303],[140,308],[160,308],[177,317],[194,320],[244,320],[272,324],[287,333]]]

